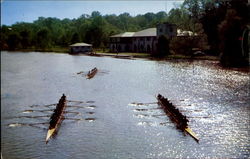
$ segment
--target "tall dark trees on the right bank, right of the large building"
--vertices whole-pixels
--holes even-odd
[[[249,65],[250,4],[247,0],[185,0],[180,8],[172,9],[168,20],[179,28],[201,35],[176,41],[177,48],[197,46],[220,56],[224,66]],[[245,53],[245,54],[244,54]]]

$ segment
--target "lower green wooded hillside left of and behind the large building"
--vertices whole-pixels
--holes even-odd
[[[1,49],[48,50],[57,46],[68,47],[77,42],[91,43],[95,48],[106,48],[109,36],[155,27],[166,18],[165,12],[132,17],[129,13],[101,15],[98,11],[72,20],[39,17],[33,23],[18,22],[11,26],[1,26]],[[10,34],[12,35],[9,37]],[[15,40],[12,42],[10,39]]]

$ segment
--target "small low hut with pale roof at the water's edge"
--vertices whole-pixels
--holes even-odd
[[[90,53],[92,52],[92,45],[87,43],[75,43],[70,45],[70,53],[78,54],[78,53]]]

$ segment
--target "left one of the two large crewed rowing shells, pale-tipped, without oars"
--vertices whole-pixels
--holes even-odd
[[[50,124],[49,126],[49,130],[47,132],[47,136],[46,136],[46,140],[45,142],[48,143],[49,139],[51,138],[51,136],[53,136],[56,132],[56,130],[58,129],[60,123],[62,122],[62,120],[64,119],[63,117],[63,113],[64,113],[64,109],[66,107],[66,96],[63,94],[63,96],[61,97],[61,99],[59,100],[59,103],[57,104],[57,107],[55,109],[55,112],[56,111],[59,111],[60,113],[58,114],[58,118],[56,118],[57,120],[55,121],[55,125],[52,126]],[[58,110],[57,110],[58,109]],[[61,110],[60,110],[61,109]],[[55,113],[52,114],[52,116],[54,115]]]

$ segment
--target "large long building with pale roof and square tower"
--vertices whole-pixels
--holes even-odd
[[[157,51],[158,38],[164,35],[168,38],[177,36],[177,27],[174,24],[162,23],[156,28],[148,28],[138,32],[125,32],[110,36],[111,52],[144,52]]]

